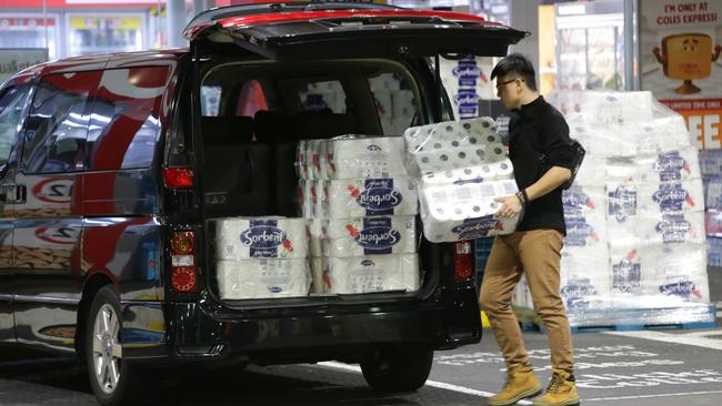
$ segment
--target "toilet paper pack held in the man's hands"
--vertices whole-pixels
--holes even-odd
[[[513,195],[511,161],[490,118],[442,122],[404,132],[407,168],[419,179],[424,236],[453,242],[508,234],[519,217],[495,216],[494,197]]]

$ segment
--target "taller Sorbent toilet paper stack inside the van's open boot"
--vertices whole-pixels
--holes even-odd
[[[417,291],[417,182],[400,136],[301,141],[299,200],[309,221],[312,294]]]

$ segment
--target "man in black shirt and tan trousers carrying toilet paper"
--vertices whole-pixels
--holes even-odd
[[[521,214],[517,231],[497,236],[481,285],[480,303],[507,363],[503,390],[489,398],[492,406],[512,405],[541,393],[529,362],[511,295],[527,276],[534,309],[544,322],[551,348],[552,378],[534,405],[575,405],[572,341],[560,296],[560,261],[566,234],[560,185],[571,177],[573,151],[569,126],[556,109],[537,91],[534,67],[522,54],[503,58],[491,72],[509,123],[509,156],[519,193],[497,199],[500,216]],[[544,162],[541,161],[545,155]]]

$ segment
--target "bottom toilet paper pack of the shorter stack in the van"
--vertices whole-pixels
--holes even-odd
[[[309,294],[305,258],[219,261],[218,287],[223,300],[293,297]]]

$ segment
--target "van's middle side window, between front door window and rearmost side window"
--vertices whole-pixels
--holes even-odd
[[[49,74],[32,100],[22,148],[28,173],[81,170],[88,133],[91,87],[98,72]],[[94,90],[94,89],[93,89]]]

